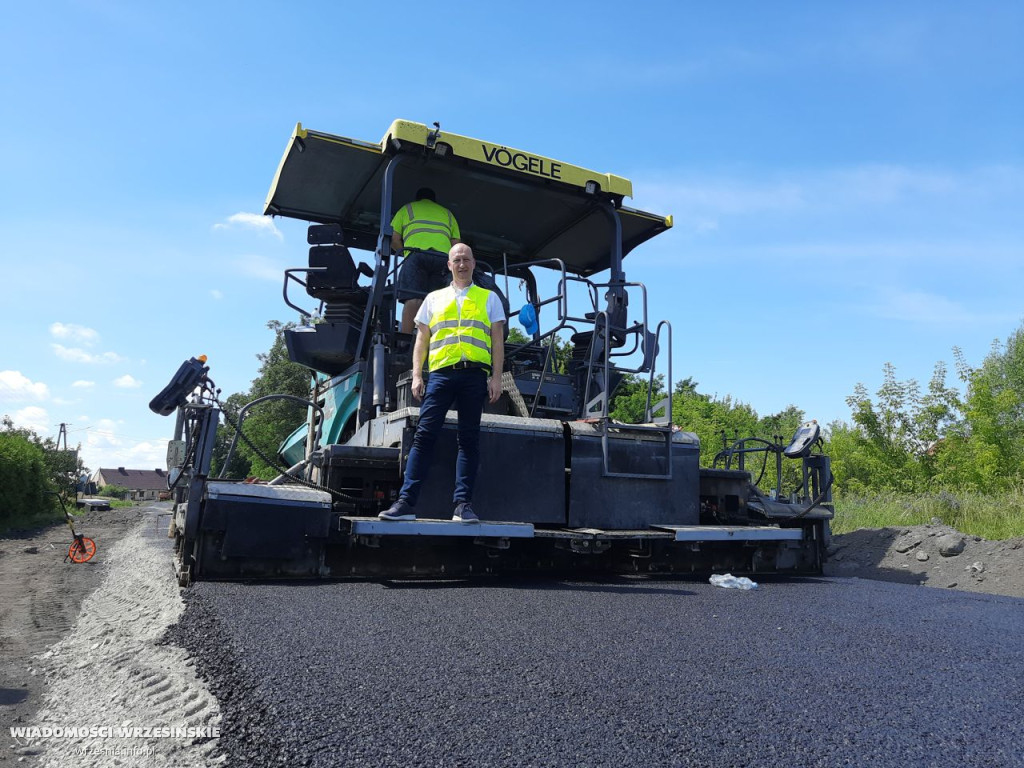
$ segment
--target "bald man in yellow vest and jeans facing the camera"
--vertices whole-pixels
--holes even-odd
[[[498,294],[473,285],[473,251],[464,243],[449,253],[452,285],[433,291],[416,315],[413,347],[413,395],[423,399],[406,480],[398,500],[381,512],[382,520],[415,520],[416,502],[430,468],[430,455],[444,426],[444,414],[459,413],[455,513],[458,522],[479,522],[471,506],[479,464],[483,401],[497,402],[505,366],[505,309]],[[423,361],[430,376],[424,386]]]

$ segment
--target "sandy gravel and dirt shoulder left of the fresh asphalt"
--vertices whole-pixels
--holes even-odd
[[[184,650],[164,642],[184,610],[167,511],[90,512],[76,529],[97,554],[83,564],[62,561],[66,526],[0,540],[0,589],[11,597],[0,610],[0,766],[212,764],[216,699]],[[109,730],[11,732],[20,726]]]

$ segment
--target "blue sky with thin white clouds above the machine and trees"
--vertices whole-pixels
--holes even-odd
[[[150,398],[246,389],[304,226],[258,214],[296,122],[396,118],[631,178],[674,378],[848,420],[1024,318],[1019,2],[18,4],[0,24],[0,413],[163,466]]]

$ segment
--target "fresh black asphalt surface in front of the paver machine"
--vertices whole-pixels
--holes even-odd
[[[1024,766],[1024,600],[856,579],[199,584],[228,765]]]

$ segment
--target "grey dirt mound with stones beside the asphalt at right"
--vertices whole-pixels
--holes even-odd
[[[826,575],[1024,597],[1024,539],[991,542],[935,521],[833,537]]]

